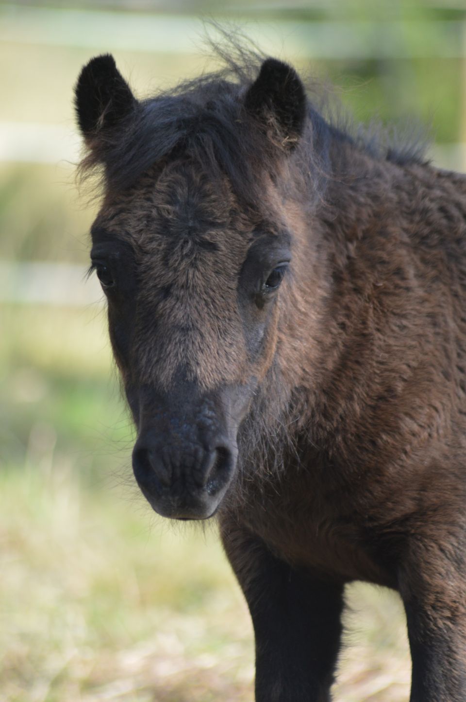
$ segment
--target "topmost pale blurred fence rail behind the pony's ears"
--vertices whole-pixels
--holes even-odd
[[[0,5],[0,41],[48,46],[97,47],[111,38],[114,50],[198,53],[203,51],[205,25],[199,17],[166,13],[73,10]],[[287,53],[335,58],[465,58],[466,22],[460,20],[294,21],[235,19],[265,53],[277,53],[287,39]],[[221,22],[222,20],[220,20]],[[207,27],[208,27],[207,22]],[[215,29],[209,32],[215,37]]]

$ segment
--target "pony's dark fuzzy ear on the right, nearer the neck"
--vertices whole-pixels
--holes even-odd
[[[245,97],[247,111],[264,126],[277,127],[282,145],[294,148],[306,120],[306,91],[294,68],[275,58],[266,59]]]

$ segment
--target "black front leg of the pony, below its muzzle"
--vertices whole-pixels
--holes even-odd
[[[221,538],[254,625],[256,702],[329,701],[343,585],[293,569],[226,519]]]

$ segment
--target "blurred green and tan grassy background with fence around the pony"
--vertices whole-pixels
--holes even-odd
[[[252,700],[252,628],[214,529],[161,522],[132,482],[74,187],[81,65],[111,51],[146,95],[205,67],[203,17],[331,79],[356,119],[429,125],[434,162],[466,168],[464,0],[0,2],[1,702]],[[348,601],[336,699],[406,700],[397,597]]]

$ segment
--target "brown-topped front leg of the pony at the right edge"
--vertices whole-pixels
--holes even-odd
[[[438,534],[441,529],[438,529]],[[465,539],[410,544],[399,574],[413,661],[410,702],[466,700]]]

